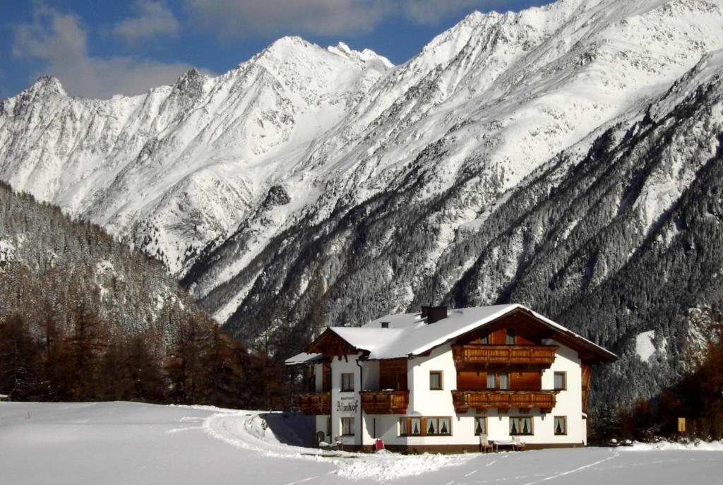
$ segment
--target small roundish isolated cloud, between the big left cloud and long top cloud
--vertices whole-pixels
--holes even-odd
[[[122,20],[113,28],[114,34],[127,43],[138,44],[159,35],[179,33],[179,21],[160,1],[136,1],[134,9],[137,17]]]

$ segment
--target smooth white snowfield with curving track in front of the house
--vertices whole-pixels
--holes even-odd
[[[301,447],[289,413],[139,403],[0,403],[3,484],[718,484],[723,444],[465,455]]]

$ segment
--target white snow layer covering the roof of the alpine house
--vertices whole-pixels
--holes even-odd
[[[484,327],[484,325],[516,309],[529,312],[536,319],[557,330],[557,332],[578,340],[584,347],[595,353],[602,354],[607,359],[617,358],[614,353],[520,304],[450,309],[447,318],[432,325],[428,325],[426,320],[422,319],[422,314],[406,313],[385,315],[362,327],[329,327],[328,330],[334,332],[351,347],[366,352],[367,359],[398,359],[416,356],[432,350],[432,348],[457,338],[466,332]],[[387,322],[388,327],[382,327],[382,322]],[[301,359],[302,355],[294,356],[288,359],[286,363],[301,364],[310,362],[310,360],[303,361]]]

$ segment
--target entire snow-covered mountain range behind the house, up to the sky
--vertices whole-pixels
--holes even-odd
[[[44,78],[0,104],[0,178],[157,255],[245,338],[515,299],[634,359],[673,310],[616,292],[711,231],[722,48],[719,0],[558,0],[400,66],[283,38],[134,98]],[[706,288],[673,295],[659,376],[688,308],[723,303]]]

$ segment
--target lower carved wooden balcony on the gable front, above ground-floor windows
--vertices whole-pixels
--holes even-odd
[[[458,413],[466,413],[469,408],[476,411],[489,408],[541,408],[552,410],[555,407],[557,391],[536,390],[486,390],[486,391],[452,391],[452,401]]]

